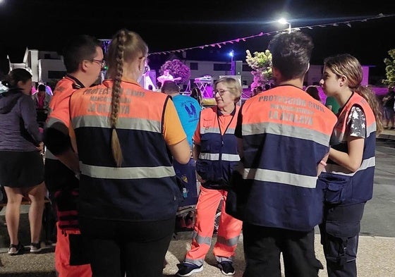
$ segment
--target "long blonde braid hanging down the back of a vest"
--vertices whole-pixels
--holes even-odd
[[[121,81],[123,74],[123,51],[124,44],[126,41],[126,32],[121,30],[116,37],[116,75],[114,76],[114,87],[112,88],[111,94],[111,114],[110,114],[110,126],[111,126],[111,150],[116,166],[121,167],[123,161],[121,144],[119,143],[119,137],[116,133],[116,123],[118,122],[119,112],[119,97],[121,94]]]

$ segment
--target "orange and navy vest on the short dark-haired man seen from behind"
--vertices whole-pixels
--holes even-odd
[[[300,88],[283,85],[246,100],[241,118],[243,221],[312,230],[322,221],[317,165],[329,152],[336,116]]]

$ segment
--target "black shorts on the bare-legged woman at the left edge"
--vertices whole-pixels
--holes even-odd
[[[0,151],[0,184],[33,187],[44,182],[44,161],[38,151]]]

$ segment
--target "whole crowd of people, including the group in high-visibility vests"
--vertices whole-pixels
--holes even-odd
[[[216,105],[205,109],[201,92],[181,95],[169,70],[157,79],[162,93],[140,85],[149,48],[126,29],[107,53],[95,37],[71,38],[63,51],[67,74],[52,97],[44,85],[31,96],[32,75],[11,70],[0,93],[8,254],[24,250],[23,197],[31,201],[30,252],[40,252],[49,195],[59,277],[159,277],[177,211],[193,204],[190,249],[177,276],[203,270],[220,208],[213,253],[224,275],[235,273],[242,233],[244,277],[281,276],[281,253],[287,277],[317,277],[319,226],[328,276],[356,277],[376,136],[390,123],[394,128],[394,92],[381,104],[361,85],[358,59],[339,54],[324,60],[322,103],[316,86],[303,90],[313,47],[300,31],[275,35],[274,84],[239,104],[239,80],[220,78]],[[98,82],[104,66],[107,78]]]

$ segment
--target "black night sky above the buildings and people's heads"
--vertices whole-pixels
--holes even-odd
[[[100,1],[101,2],[101,1]],[[318,3],[318,4],[317,4]],[[382,13],[382,18],[376,18]],[[245,61],[245,50],[265,51],[269,39],[286,29],[276,21],[285,17],[291,27],[312,36],[312,64],[326,56],[350,53],[363,65],[374,66],[371,74],[384,75],[384,58],[395,48],[395,2],[371,1],[99,1],[3,0],[0,4],[0,70],[6,56],[23,62],[26,47],[61,54],[63,44],[77,34],[110,39],[122,27],[138,32],[150,47],[150,64],[158,69],[169,54],[186,50],[186,59]],[[375,18],[363,20],[365,18]],[[334,24],[332,24],[334,23]],[[337,24],[335,24],[337,23]],[[319,27],[322,25],[322,27]],[[310,28],[309,28],[310,27]],[[220,44],[254,36],[243,42]],[[155,68],[157,67],[157,68]]]

